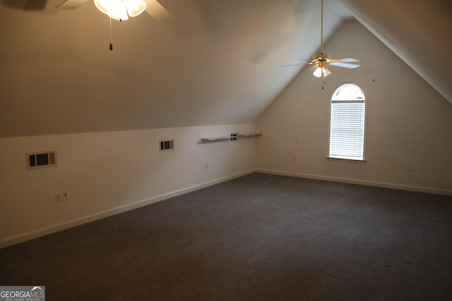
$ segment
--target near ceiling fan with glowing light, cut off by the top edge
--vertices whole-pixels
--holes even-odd
[[[63,10],[76,9],[90,0],[64,0],[57,5]],[[155,20],[169,18],[167,11],[157,0],[94,0],[95,6],[114,20],[124,21],[130,17],[138,16],[146,11]]]

